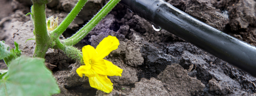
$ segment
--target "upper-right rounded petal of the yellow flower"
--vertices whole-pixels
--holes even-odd
[[[116,50],[118,45],[119,45],[119,41],[117,37],[113,37],[109,35],[108,37],[104,38],[96,47],[96,51],[98,53],[97,58],[103,59],[111,51]]]

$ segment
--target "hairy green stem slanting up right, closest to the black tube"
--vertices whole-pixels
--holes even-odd
[[[82,40],[121,0],[110,0],[84,27],[72,37],[63,40],[66,45],[75,45]]]

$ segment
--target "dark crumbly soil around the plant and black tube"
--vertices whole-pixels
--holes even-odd
[[[46,17],[63,21],[77,0],[53,0],[47,4]],[[74,34],[106,3],[91,0],[62,34]],[[167,0],[176,8],[256,46],[256,6],[254,0]],[[22,54],[34,52],[33,23],[29,16],[30,0],[0,1],[0,40],[13,47],[20,44]],[[91,32],[75,46],[96,47],[108,35],[120,40],[117,50],[104,59],[123,69],[122,77],[108,76],[114,89],[106,94],[91,88],[88,78],[75,70],[79,62],[63,51],[49,49],[46,66],[53,71],[60,94],[53,96],[255,96],[256,78],[207,53],[166,30],[155,31],[151,24],[118,4]],[[0,69],[7,69],[3,60]]]

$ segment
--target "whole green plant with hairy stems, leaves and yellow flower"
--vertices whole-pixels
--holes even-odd
[[[81,50],[74,47],[82,40],[113,8],[120,0],[109,0],[107,4],[80,30],[71,37],[60,40],[60,35],[81,11],[88,0],[78,0],[75,7],[67,17],[58,25],[58,17],[50,17],[46,20],[46,4],[52,0],[31,0],[30,15],[34,23],[33,40],[36,41],[33,57],[22,56],[18,44],[14,42],[15,49],[10,49],[4,41],[0,42],[0,59],[4,59],[8,71],[0,73],[1,96],[50,96],[60,93],[58,84],[52,76],[52,72],[44,65],[45,54],[49,48],[60,49],[68,57],[80,62],[76,72],[80,77],[87,76],[91,87],[109,93],[113,89],[113,83],[108,76],[121,76],[122,69],[112,62],[103,59],[112,50],[117,49],[119,41],[116,37],[104,38],[95,49],[87,45]],[[29,39],[31,40],[31,39]]]

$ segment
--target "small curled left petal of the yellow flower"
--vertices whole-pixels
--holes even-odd
[[[90,64],[88,64],[90,65]],[[95,77],[95,75],[97,75],[97,73],[92,70],[92,69],[88,69],[88,66],[80,66],[79,68],[76,69],[76,73],[80,76],[83,77],[83,74],[87,77]]]

